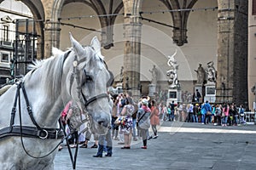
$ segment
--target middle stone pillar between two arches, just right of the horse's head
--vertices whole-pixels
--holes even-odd
[[[139,11],[140,0],[124,0],[125,8],[125,49],[124,49],[124,89],[130,88],[134,99],[140,98],[141,31]],[[128,79],[127,79],[128,77]]]

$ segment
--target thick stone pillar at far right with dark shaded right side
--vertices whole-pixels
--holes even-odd
[[[218,0],[216,102],[247,102],[247,1]]]

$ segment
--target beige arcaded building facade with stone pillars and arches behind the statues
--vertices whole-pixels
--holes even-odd
[[[3,3],[0,0],[0,3]],[[109,68],[133,94],[147,89],[153,65],[159,89],[167,88],[168,55],[179,64],[183,91],[193,93],[195,69],[213,61],[217,102],[248,104],[248,2],[240,0],[21,0],[36,20],[37,58],[70,46],[68,31],[88,45],[100,37]],[[249,1],[250,2],[250,1]],[[128,77],[128,79],[127,79]],[[250,102],[250,101],[249,101]]]

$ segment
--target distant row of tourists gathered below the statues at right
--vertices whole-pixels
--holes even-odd
[[[246,124],[245,108],[235,103],[223,103],[210,105],[208,101],[201,105],[177,104],[172,102],[160,105],[160,120],[179,122],[201,122],[201,124],[213,124],[216,126],[238,126]]]

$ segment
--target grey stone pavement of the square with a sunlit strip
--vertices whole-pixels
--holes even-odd
[[[121,150],[121,146],[113,140],[113,156],[102,158],[92,157],[96,149],[79,148],[76,169],[256,169],[255,125],[162,122],[158,139],[148,140],[148,150],[140,148],[141,140],[132,141],[131,150]],[[55,170],[66,169],[73,167],[64,147],[55,157]]]

